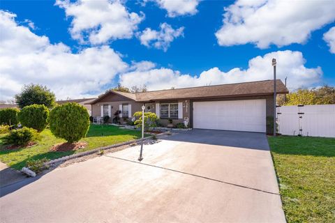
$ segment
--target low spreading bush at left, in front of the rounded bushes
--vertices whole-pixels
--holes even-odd
[[[13,144],[15,146],[25,146],[29,141],[35,141],[38,137],[36,130],[32,128],[21,128],[18,130],[11,130],[9,134],[3,137],[4,144]]]

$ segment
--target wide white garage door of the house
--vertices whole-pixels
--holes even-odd
[[[266,101],[193,102],[193,128],[266,132]]]

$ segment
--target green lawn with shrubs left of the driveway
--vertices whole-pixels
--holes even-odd
[[[43,157],[53,160],[65,155],[88,151],[101,146],[117,144],[123,141],[129,141],[141,137],[140,131],[124,130],[113,125],[91,125],[87,137],[80,141],[87,141],[88,145],[77,151],[52,152],[50,148],[54,144],[65,142],[63,139],[57,139],[50,130],[43,130],[40,133],[41,139],[36,146],[30,148],[17,148],[15,150],[6,150],[6,146],[1,143],[0,135],[0,160],[14,169],[21,169],[25,166],[27,160],[39,160]]]

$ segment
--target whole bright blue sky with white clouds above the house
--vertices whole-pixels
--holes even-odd
[[[24,30],[27,36],[34,35],[27,43],[36,41],[36,47],[21,50],[20,43],[26,41],[21,39],[24,35],[15,36],[18,33],[13,31],[8,36],[15,36],[10,38],[19,42],[15,43],[14,52],[13,47],[8,47],[9,38],[1,34],[0,49],[3,47],[6,49],[3,52],[10,51],[10,54],[0,55],[0,59],[18,68],[1,70],[0,66],[3,82],[10,79],[12,84],[3,87],[0,79],[0,100],[10,99],[23,84],[30,82],[46,84],[57,98],[64,99],[98,95],[118,82],[128,87],[146,84],[149,90],[156,90],[269,79],[271,57],[278,61],[278,77],[288,76],[291,90],[335,85],[335,52],[331,48],[332,44],[335,48],[335,29],[331,32],[335,26],[334,1],[322,1],[319,6],[299,1],[300,5],[291,4],[292,12],[287,15],[281,15],[285,14],[281,8],[285,6],[277,1],[185,0],[175,1],[174,5],[163,1],[117,1],[118,5],[113,4],[116,1],[95,1],[110,6],[110,11],[102,7],[101,13],[99,8],[92,13],[92,5],[85,7],[84,1],[1,1],[1,10],[10,13],[3,15],[8,23],[3,24],[1,32],[13,31],[12,26],[15,29],[27,27]],[[114,6],[124,7],[120,20],[110,18]],[[267,12],[264,13],[264,9]],[[250,10],[253,13],[248,13]],[[135,13],[137,19],[131,18],[131,13]],[[278,15],[272,17],[276,13]],[[252,23],[255,18],[258,24]],[[94,28],[87,29],[80,20],[84,24],[94,20],[96,23],[92,25]],[[29,26],[29,22],[34,26]],[[117,22],[119,27],[129,26],[129,30],[110,31]],[[159,33],[161,24],[165,24],[166,29]],[[102,29],[107,30],[105,36],[101,34]],[[147,34],[151,34],[147,42],[144,40],[146,29],[149,29]],[[90,40],[89,36],[95,35],[91,33],[101,34],[100,39]],[[49,42],[40,46],[43,36]],[[60,49],[59,43],[68,49]],[[57,53],[46,49],[50,45]],[[95,56],[83,56],[87,49],[96,50],[92,53]],[[50,62],[44,63],[41,54]],[[17,61],[18,55],[22,55],[20,61]],[[110,56],[110,61],[105,55]],[[59,59],[67,56],[68,60]],[[80,70],[91,73],[82,74]]]

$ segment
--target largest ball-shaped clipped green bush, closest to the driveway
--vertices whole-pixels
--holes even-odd
[[[86,136],[89,130],[89,114],[82,105],[66,103],[51,110],[49,123],[55,137],[73,143]]]

